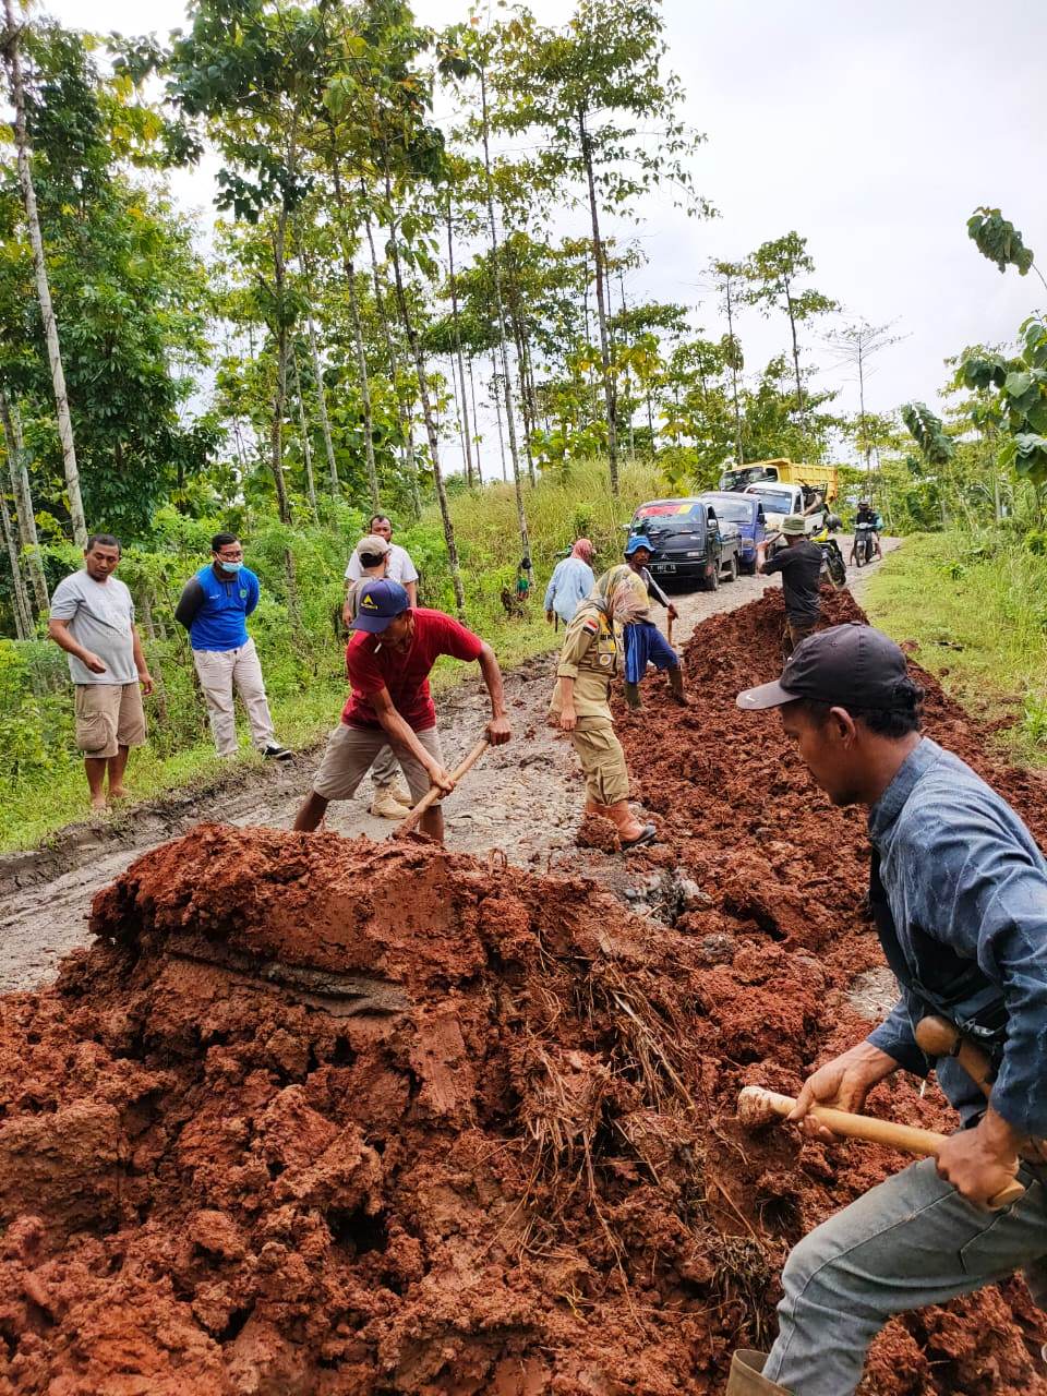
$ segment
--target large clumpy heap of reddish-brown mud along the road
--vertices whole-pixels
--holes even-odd
[[[779,631],[778,596],[706,623],[695,706],[623,720],[662,924],[422,840],[216,826],[102,893],[56,988],[0,1001],[0,1392],[722,1390],[789,1245],[899,1164],[733,1118],[863,1034],[878,963],[860,814],[733,705]],[[1044,1337],[1012,1282],[892,1325],[863,1392],[1047,1396]]]

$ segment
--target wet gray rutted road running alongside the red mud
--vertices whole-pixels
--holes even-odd
[[[891,550],[898,546],[885,540]],[[860,596],[872,568],[850,570]],[[740,577],[718,592],[674,597],[680,611],[673,639],[683,644],[709,616],[761,596],[778,578]],[[456,852],[504,850],[511,863],[547,872],[585,872],[620,895],[630,891],[627,870],[575,846],[582,782],[570,744],[544,723],[554,655],[543,655],[507,676],[505,690],[515,740],[490,751],[445,805],[448,846]],[[658,699],[660,678],[645,691]],[[440,704],[448,764],[456,764],[482,733],[489,708],[483,685],[469,680]],[[332,713],[332,726],[336,713]],[[87,917],[95,892],[134,859],[202,821],[290,828],[310,789],[322,747],[304,752],[289,768],[246,768],[239,786],[202,794],[186,792],[133,807],[119,822],[73,825],[43,849],[0,857],[0,993],[31,988],[54,977],[63,955],[87,941]],[[642,772],[635,772],[642,786]],[[338,833],[385,838],[391,825],[369,814],[370,780],[352,801],[332,805],[327,826]]]

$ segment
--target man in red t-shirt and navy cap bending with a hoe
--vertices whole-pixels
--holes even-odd
[[[498,660],[479,635],[443,611],[412,610],[406,591],[384,577],[363,582],[356,600],[355,634],[345,651],[352,694],[328,738],[313,792],[297,812],[296,829],[315,829],[332,800],[350,800],[387,743],[399,758],[415,804],[433,785],[443,794],[454,790],[429,691],[429,671],[440,655],[479,663],[491,695],[487,737],[500,747],[512,736]],[[438,803],[423,814],[419,828],[444,842]]]

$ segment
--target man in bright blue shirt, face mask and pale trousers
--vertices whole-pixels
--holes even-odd
[[[247,617],[257,604],[258,578],[243,565],[239,537],[215,533],[211,563],[186,582],[174,620],[188,631],[219,757],[236,755],[235,692],[239,692],[254,745],[264,757],[288,761],[290,752],[272,730],[258,652],[247,634]]]

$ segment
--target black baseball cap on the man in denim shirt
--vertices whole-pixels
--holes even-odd
[[[800,641],[772,684],[747,688],[736,698],[738,708],[758,711],[780,708],[797,698],[814,698],[839,708],[881,708],[912,705],[899,688],[907,685],[905,655],[888,637],[871,625],[832,625]]]

